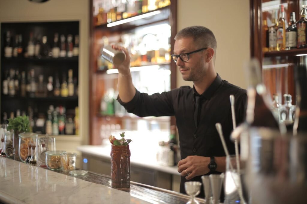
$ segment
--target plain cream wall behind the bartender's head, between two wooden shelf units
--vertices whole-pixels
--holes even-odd
[[[202,25],[217,40],[216,72],[222,79],[247,88],[243,63],[250,59],[248,0],[178,0],[177,30]],[[177,87],[192,86],[177,72]]]

